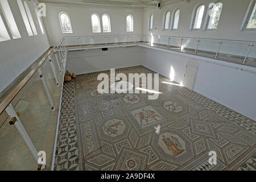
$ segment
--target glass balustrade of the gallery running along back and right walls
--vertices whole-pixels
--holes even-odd
[[[92,47],[118,44],[144,44],[147,46],[170,49],[172,51],[188,53],[191,55],[256,67],[256,45],[254,45],[254,42],[247,41],[186,38],[153,34],[131,34],[67,37],[65,43],[68,46],[75,46],[73,48],[82,48],[83,45]]]

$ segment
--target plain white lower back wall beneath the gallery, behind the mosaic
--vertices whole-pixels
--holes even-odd
[[[77,75],[141,65],[141,47],[118,47],[68,52],[67,70]]]

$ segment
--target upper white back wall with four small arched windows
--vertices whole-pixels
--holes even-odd
[[[142,34],[142,9],[125,9],[121,7],[94,7],[84,5],[60,5],[46,4],[46,24],[47,33],[51,45],[59,43],[63,36],[86,36],[86,35],[118,35],[118,34]],[[73,29],[72,34],[63,34],[61,32],[59,13],[65,11],[69,14]],[[90,15],[97,13],[100,16],[108,14],[110,16],[111,31],[110,33],[92,33]],[[134,31],[126,32],[126,16],[133,15]],[[101,21],[102,23],[102,21]],[[101,24],[102,29],[102,24]]]

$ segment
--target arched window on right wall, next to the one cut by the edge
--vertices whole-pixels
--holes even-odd
[[[220,20],[222,7],[222,3],[218,2],[212,7],[212,9],[210,9],[211,13],[208,23],[208,29],[216,29],[218,27],[218,21]]]

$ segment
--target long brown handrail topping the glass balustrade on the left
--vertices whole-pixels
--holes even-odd
[[[40,56],[42,58],[40,58],[39,63],[37,63],[36,65],[34,65],[34,67],[31,69],[31,71],[29,73],[26,74],[26,76],[24,76],[24,78],[22,79],[22,81],[19,82],[18,85],[15,86],[15,88],[13,90],[11,90],[11,92],[9,94],[7,94],[7,96],[5,97],[5,99],[0,103],[0,114],[3,113],[3,111],[5,111],[6,107],[9,106],[9,104],[11,103],[11,101],[14,100],[15,96],[17,96],[17,94],[20,92],[20,90],[22,90],[22,88],[27,84],[27,82],[30,80],[30,78],[38,71],[38,69],[41,67],[41,65],[48,59],[49,55],[52,54],[53,50],[56,48],[56,46],[54,47],[50,47],[46,53],[44,53],[44,55]]]

